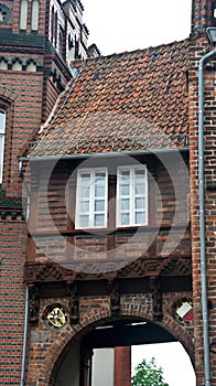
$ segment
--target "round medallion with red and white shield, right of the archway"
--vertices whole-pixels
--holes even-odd
[[[173,304],[173,318],[180,324],[190,324],[194,321],[192,299],[182,298]]]

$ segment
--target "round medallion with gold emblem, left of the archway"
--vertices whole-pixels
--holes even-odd
[[[42,319],[54,329],[61,329],[67,323],[67,310],[61,303],[53,303],[45,308]]]

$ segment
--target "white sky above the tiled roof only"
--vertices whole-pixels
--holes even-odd
[[[89,45],[102,55],[147,49],[190,35],[192,0],[82,0]]]

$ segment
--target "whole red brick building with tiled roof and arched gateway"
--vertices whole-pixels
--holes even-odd
[[[215,9],[193,0],[185,41],[83,61],[94,47],[80,1],[0,4],[0,384],[89,386],[94,349],[179,341],[197,386],[216,385],[214,61],[204,68],[212,380],[197,194],[197,69]]]

